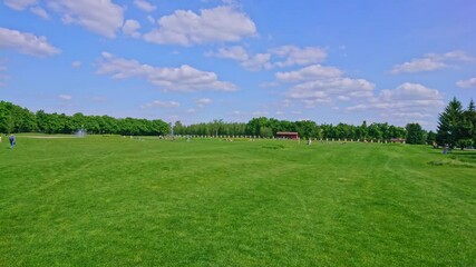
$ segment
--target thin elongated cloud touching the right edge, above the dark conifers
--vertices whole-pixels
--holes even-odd
[[[391,73],[411,73],[431,71],[449,67],[454,62],[473,61],[474,58],[464,51],[450,51],[447,53],[427,53],[422,58],[415,58],[408,62],[395,65]]]

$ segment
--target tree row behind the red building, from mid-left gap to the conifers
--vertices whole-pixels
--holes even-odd
[[[174,134],[182,136],[251,136],[271,138],[279,131],[298,132],[301,138],[334,140],[385,141],[395,138],[406,139],[408,144],[431,144],[435,132],[427,132],[418,123],[397,127],[388,123],[370,123],[360,126],[348,123],[318,125],[312,120],[288,121],[273,118],[253,118],[249,122],[224,122],[214,120],[207,123],[184,126],[181,121],[174,125]],[[430,139],[428,139],[430,138]]]

